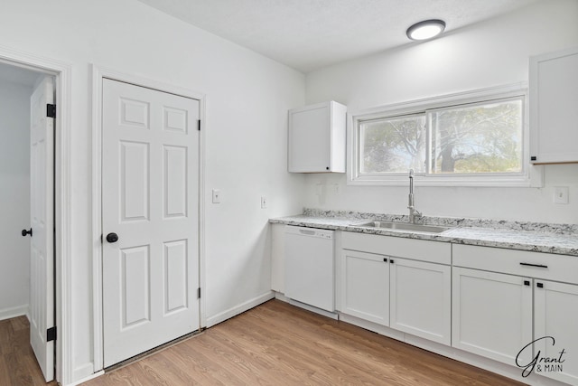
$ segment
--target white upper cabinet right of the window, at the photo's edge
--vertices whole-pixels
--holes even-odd
[[[530,162],[578,163],[578,47],[530,58]]]

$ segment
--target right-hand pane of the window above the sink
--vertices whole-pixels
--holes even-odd
[[[522,100],[429,113],[431,173],[522,172]]]

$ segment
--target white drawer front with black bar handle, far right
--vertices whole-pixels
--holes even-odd
[[[453,265],[578,284],[578,257],[452,244]]]

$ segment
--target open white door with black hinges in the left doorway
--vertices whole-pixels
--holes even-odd
[[[30,204],[32,236],[30,261],[30,344],[46,381],[54,378],[54,118],[46,117],[53,104],[54,85],[46,77],[30,99]],[[23,235],[25,235],[23,231]]]

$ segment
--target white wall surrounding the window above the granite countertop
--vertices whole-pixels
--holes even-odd
[[[356,111],[464,90],[527,82],[528,56],[578,45],[578,2],[543,0],[515,13],[451,30],[431,42],[348,61],[306,77],[308,103],[334,99]],[[406,213],[406,187],[347,186],[345,175],[306,177],[305,205]],[[322,195],[316,184],[326,184]],[[334,193],[333,184],[340,185]],[[554,186],[570,187],[570,203],[554,204]],[[578,165],[545,166],[544,188],[415,187],[425,215],[578,222]]]

